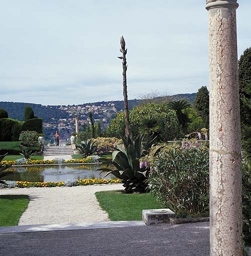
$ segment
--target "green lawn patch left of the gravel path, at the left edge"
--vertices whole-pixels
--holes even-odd
[[[17,225],[21,214],[28,206],[28,202],[28,195],[0,195],[0,226]]]

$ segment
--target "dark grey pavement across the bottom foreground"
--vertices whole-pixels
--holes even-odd
[[[209,223],[0,233],[4,256],[209,256]]]

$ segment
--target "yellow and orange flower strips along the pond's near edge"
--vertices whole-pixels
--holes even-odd
[[[121,183],[120,179],[103,179],[103,178],[88,178],[88,179],[79,179],[74,184],[78,185],[94,185],[94,184],[110,184],[110,183]],[[52,187],[52,186],[63,186],[64,182],[30,182],[30,181],[16,181],[16,186],[23,187]]]

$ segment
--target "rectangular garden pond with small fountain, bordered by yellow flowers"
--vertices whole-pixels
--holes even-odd
[[[4,179],[32,182],[60,182],[67,179],[115,178],[112,174],[104,177],[105,173],[100,174],[100,170],[96,170],[103,167],[105,167],[104,164],[20,166],[9,168],[14,173],[4,177]]]

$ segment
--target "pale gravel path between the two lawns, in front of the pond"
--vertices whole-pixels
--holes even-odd
[[[0,189],[3,194],[28,194],[28,208],[18,225],[108,221],[95,197],[96,191],[123,189],[121,184],[73,187],[31,187]]]

